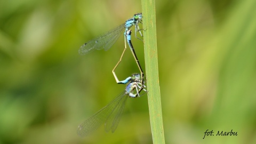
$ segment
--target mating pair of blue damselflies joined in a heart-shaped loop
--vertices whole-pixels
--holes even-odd
[[[132,31],[130,28],[132,26],[135,26],[135,37],[137,37],[137,32],[139,31],[140,35],[141,29],[139,28],[139,23],[142,23],[142,13],[134,14],[133,18],[128,19],[123,23],[122,25],[119,25],[115,27],[114,29],[109,30],[106,33],[103,33],[102,35],[92,39],[91,41],[83,44],[79,49],[79,54],[84,55],[87,53],[90,53],[94,50],[102,50],[105,51],[109,50],[110,47],[117,41],[118,37],[121,35],[122,31],[124,32],[124,50],[121,55],[121,58],[117,62],[116,66],[113,68],[112,73],[115,77],[115,80],[118,84],[127,84],[125,87],[125,90],[118,94],[116,98],[114,98],[106,107],[103,107],[101,110],[99,110],[97,113],[95,113],[92,117],[84,121],[82,124],[78,126],[77,134],[84,137],[94,130],[98,129],[98,127],[105,123],[105,130],[108,132],[111,130],[114,132],[117,128],[117,125],[119,123],[119,120],[121,118],[121,115],[123,113],[123,109],[125,106],[125,102],[128,97],[136,98],[140,97],[140,92],[142,90],[145,90],[145,82],[144,79],[144,73],[140,66],[139,60],[137,58],[137,55],[133,49],[133,45],[131,42],[131,33]],[[138,38],[140,39],[140,38]],[[141,39],[140,39],[141,40]],[[135,62],[138,65],[138,68],[140,70],[139,74],[133,74],[131,77],[127,77],[124,81],[119,81],[115,74],[115,69],[119,65],[119,63],[122,60],[123,54],[126,50],[126,41],[129,44],[130,50],[133,54],[133,57],[135,59]],[[146,90],[145,90],[146,91]]]

